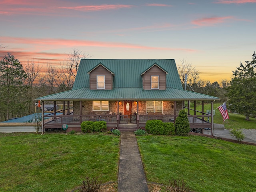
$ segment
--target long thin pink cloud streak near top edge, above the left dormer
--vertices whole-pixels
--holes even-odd
[[[58,9],[72,9],[79,11],[99,11],[99,10],[111,10],[120,8],[132,8],[134,5],[88,5],[88,6],[69,6],[69,7],[57,7]]]

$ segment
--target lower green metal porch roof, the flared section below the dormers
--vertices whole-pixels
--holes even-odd
[[[142,88],[90,90],[90,88],[79,88],[39,97],[36,100],[220,100],[220,98],[176,88],[167,88],[166,90],[143,90]]]

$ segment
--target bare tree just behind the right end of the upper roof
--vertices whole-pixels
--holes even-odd
[[[199,71],[196,70],[196,67],[192,66],[190,62],[187,62],[187,60],[182,59],[181,65],[178,66],[178,72],[180,75],[180,81],[183,84],[185,84],[185,74],[188,75],[187,81],[189,82],[190,85],[196,83],[199,79]]]

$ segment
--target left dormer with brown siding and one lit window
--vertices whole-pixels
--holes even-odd
[[[87,73],[90,75],[91,90],[113,89],[115,74],[102,63],[99,63]]]

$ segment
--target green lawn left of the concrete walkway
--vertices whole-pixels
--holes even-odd
[[[0,191],[64,192],[88,177],[117,181],[120,138],[0,134]]]

